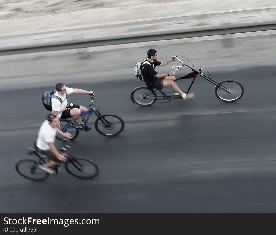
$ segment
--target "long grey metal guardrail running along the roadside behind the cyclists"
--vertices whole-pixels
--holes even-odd
[[[0,56],[34,53],[41,51],[58,51],[93,46],[119,45],[128,43],[139,43],[146,41],[161,41],[182,38],[204,37],[214,35],[226,35],[236,33],[247,33],[257,31],[276,30],[276,21],[257,22],[249,24],[231,24],[216,27],[201,27],[186,30],[170,30],[162,32],[151,32],[146,34],[120,35],[113,37],[101,37],[86,40],[64,41],[58,43],[45,43],[36,45],[14,46],[0,48]]]

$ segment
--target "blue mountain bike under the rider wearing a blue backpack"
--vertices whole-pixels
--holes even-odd
[[[79,123],[79,125],[81,126],[80,128],[72,127],[70,125],[71,119],[60,119],[60,130],[64,133],[70,133],[72,135],[72,138],[70,138],[71,141],[77,138],[80,131],[89,131],[87,128],[87,123],[93,113],[95,113],[95,115],[98,117],[94,123],[95,129],[101,135],[117,136],[124,130],[125,124],[120,117],[113,114],[102,115],[99,110],[95,108],[95,97],[95,94],[90,95],[91,100],[89,104],[89,109],[81,112],[80,116],[87,115],[87,117],[83,125]],[[64,136],[61,136],[59,134],[56,135],[56,138],[59,140],[66,140]]]

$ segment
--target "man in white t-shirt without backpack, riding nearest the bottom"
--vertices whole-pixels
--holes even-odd
[[[66,161],[65,155],[59,153],[54,145],[56,133],[66,138],[72,137],[71,134],[63,133],[59,130],[59,124],[60,121],[56,115],[51,113],[48,114],[46,120],[40,126],[36,140],[36,147],[38,150],[48,157],[47,163],[39,165],[39,168],[50,174],[56,174],[57,171],[60,171],[59,168],[57,168],[58,164],[61,161]]]

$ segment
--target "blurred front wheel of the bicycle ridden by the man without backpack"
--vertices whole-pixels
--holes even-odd
[[[65,169],[80,179],[92,179],[99,174],[98,166],[88,158],[72,158],[65,163]]]

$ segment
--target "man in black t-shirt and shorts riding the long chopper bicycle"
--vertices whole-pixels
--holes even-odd
[[[147,87],[151,89],[162,89],[163,87],[171,87],[174,91],[174,95],[181,95],[182,98],[185,100],[192,99],[194,97],[194,93],[185,94],[180,90],[180,88],[174,81],[174,70],[164,74],[157,73],[155,71],[156,66],[165,66],[168,63],[174,61],[175,58],[172,57],[169,61],[159,62],[157,61],[157,56],[158,54],[155,49],[149,49],[147,52],[147,58],[141,63],[141,74]]]

